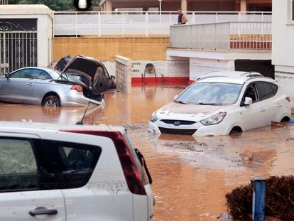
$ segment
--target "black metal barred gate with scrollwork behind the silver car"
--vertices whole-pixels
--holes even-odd
[[[1,18],[0,75],[37,64],[37,18]]]

